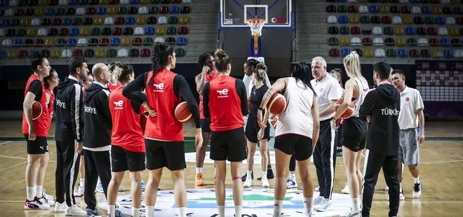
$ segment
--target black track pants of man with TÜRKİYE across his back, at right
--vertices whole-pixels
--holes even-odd
[[[389,216],[397,216],[398,212],[398,158],[396,155],[387,156],[380,153],[365,152],[365,167],[363,168],[363,209],[362,216],[370,216],[373,193],[380,170],[384,172],[384,179],[389,186]]]

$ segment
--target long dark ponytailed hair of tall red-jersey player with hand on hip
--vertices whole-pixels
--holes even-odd
[[[153,76],[149,80],[148,85],[152,85],[154,80],[154,75],[159,71],[159,69],[167,66],[169,63],[169,56],[173,55],[174,48],[167,43],[154,43],[153,48],[153,57],[151,58],[152,61],[152,69],[153,69]]]

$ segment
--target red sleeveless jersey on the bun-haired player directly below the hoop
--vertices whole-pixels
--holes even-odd
[[[244,126],[236,78],[218,76],[209,82],[210,130],[227,131]]]

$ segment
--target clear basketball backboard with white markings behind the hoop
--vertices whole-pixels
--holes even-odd
[[[264,28],[293,27],[292,0],[220,0],[220,28],[246,27],[250,18],[266,19]]]

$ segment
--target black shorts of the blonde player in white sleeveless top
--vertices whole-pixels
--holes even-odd
[[[344,119],[342,122],[341,144],[351,151],[358,152],[365,148],[367,125],[358,117]]]

